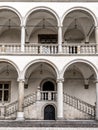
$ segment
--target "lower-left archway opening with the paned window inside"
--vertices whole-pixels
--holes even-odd
[[[18,99],[17,65],[9,60],[0,60],[0,104],[6,105]]]

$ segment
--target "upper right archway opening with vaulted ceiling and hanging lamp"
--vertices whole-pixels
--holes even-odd
[[[64,43],[95,43],[95,26],[97,20],[95,15],[88,9],[83,7],[74,7],[68,10],[62,19],[63,40]],[[77,53],[76,49],[69,49]]]

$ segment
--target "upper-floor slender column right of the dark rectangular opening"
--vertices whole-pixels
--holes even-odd
[[[62,26],[58,27],[58,52],[62,53]]]

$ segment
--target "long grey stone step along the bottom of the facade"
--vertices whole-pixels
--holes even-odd
[[[70,127],[70,128],[76,128],[76,127],[93,127],[98,128],[98,122],[97,121],[33,121],[33,120],[25,120],[25,121],[0,121],[0,127]]]

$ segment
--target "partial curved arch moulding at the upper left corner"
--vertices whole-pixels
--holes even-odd
[[[2,9],[7,9],[7,10],[10,10],[10,11],[14,12],[14,13],[19,17],[19,19],[20,19],[20,24],[22,25],[22,23],[23,23],[22,16],[21,16],[21,14],[18,12],[18,10],[16,10],[15,8],[10,7],[10,6],[0,6],[0,10],[2,10]]]

